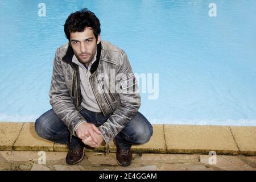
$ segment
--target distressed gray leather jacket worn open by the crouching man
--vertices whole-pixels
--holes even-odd
[[[83,109],[80,105],[79,66],[72,62],[73,56],[69,44],[57,48],[49,97],[52,109],[67,125],[71,134],[76,136],[77,127],[86,120],[79,113]],[[104,115],[110,114],[109,119],[98,127],[105,142],[109,144],[141,106],[137,80],[126,53],[105,41],[97,45],[97,60],[90,72],[92,75],[89,81],[98,105]],[[109,84],[111,79],[112,83]]]

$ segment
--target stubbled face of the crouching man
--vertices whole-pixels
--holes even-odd
[[[96,42],[92,28],[86,27],[83,32],[71,32],[70,42],[77,59],[88,66],[96,53],[97,44],[100,43],[100,35]]]

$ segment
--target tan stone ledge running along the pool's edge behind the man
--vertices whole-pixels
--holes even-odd
[[[154,133],[149,142],[133,145],[134,153],[172,153],[252,155],[256,156],[256,127],[206,126],[206,125],[153,125]],[[0,122],[0,150],[16,151],[67,151],[64,144],[40,138],[34,123]],[[104,152],[101,146],[86,151]],[[115,152],[113,141],[110,152]]]

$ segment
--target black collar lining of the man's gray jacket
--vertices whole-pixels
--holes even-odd
[[[74,52],[72,47],[69,45],[67,49],[66,55],[62,58],[64,62],[73,65],[75,68],[77,68],[77,64],[72,62],[72,58],[74,56]],[[97,56],[96,56],[96,61],[92,64],[92,67],[90,67],[90,73],[94,73],[97,68],[98,64],[100,63],[100,57],[101,57],[101,42],[97,44]]]

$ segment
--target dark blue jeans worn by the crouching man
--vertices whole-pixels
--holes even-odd
[[[111,115],[104,116],[102,113],[95,113],[87,109],[82,109],[80,113],[87,122],[93,123],[97,127],[106,122]],[[71,143],[69,142],[70,132],[68,127],[52,109],[36,119],[35,130],[40,137],[52,142],[67,144],[70,149],[84,146],[81,139],[75,136],[72,137]],[[123,130],[115,136],[114,140],[119,148],[127,150],[132,144],[148,142],[152,134],[153,130],[150,122],[141,113],[137,112]]]

